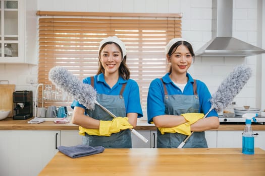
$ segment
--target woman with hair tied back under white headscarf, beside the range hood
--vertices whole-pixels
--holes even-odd
[[[169,72],[161,79],[154,79],[147,96],[148,123],[159,128],[173,128],[187,123],[181,114],[203,113],[210,109],[211,97],[207,86],[195,80],[188,73],[193,62],[194,52],[189,42],[182,38],[172,39],[166,46]],[[204,131],[219,127],[218,114],[212,110],[206,118],[191,124],[193,135],[184,147],[207,147]],[[186,138],[181,133],[161,133],[157,129],[158,148],[176,148]]]

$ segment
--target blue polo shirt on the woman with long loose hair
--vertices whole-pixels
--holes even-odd
[[[111,88],[105,82],[103,73],[100,73],[99,75],[94,75],[94,89],[96,90],[97,94],[105,94],[112,96],[120,95],[122,85],[126,82],[127,84],[123,92],[126,114],[137,113],[138,118],[142,117],[143,113],[140,103],[139,86],[135,80],[124,80],[122,77],[119,77],[118,82]],[[84,78],[83,83],[91,84],[91,78]],[[74,102],[72,103],[71,108],[74,108],[75,106],[85,109],[85,107],[76,100],[74,100]]]

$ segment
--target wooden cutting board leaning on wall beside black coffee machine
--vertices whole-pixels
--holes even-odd
[[[13,117],[13,92],[15,92],[15,84],[0,84],[0,109],[10,109],[8,117]]]

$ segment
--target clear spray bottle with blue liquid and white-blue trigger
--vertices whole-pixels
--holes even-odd
[[[255,117],[258,114],[246,113],[243,114],[243,118],[246,118],[246,126],[242,137],[242,153],[244,154],[254,154],[254,134],[251,128],[251,120],[256,122]]]

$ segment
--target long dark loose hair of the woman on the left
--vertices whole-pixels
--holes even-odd
[[[103,74],[105,73],[105,69],[103,68],[103,66],[102,66],[102,64],[100,62],[100,53],[101,53],[102,49],[106,45],[113,44],[113,43],[116,46],[118,46],[120,52],[122,53],[122,49],[121,49],[120,45],[118,45],[117,43],[115,43],[115,42],[106,42],[106,43],[104,43],[101,46],[101,48],[99,49],[99,52],[98,52],[98,69],[97,69],[97,73],[96,73],[97,75],[100,74],[100,73],[103,73]],[[123,58],[123,60],[122,60],[121,65],[119,67],[119,76],[121,76],[123,79],[127,80],[127,79],[130,78],[130,70],[129,70],[129,67],[127,66],[127,64],[126,64],[127,56],[126,55],[123,56],[123,54],[122,54],[122,58]]]

